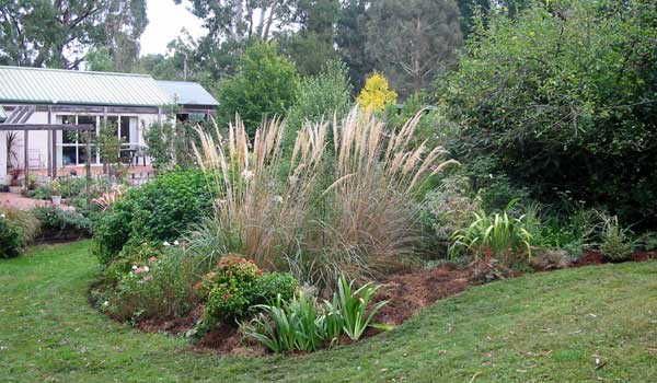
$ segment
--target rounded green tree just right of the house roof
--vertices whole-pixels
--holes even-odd
[[[274,43],[253,43],[240,58],[237,73],[219,84],[221,124],[239,114],[253,136],[263,118],[285,117],[299,79],[295,65],[276,50]]]

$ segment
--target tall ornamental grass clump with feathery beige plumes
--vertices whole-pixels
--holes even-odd
[[[322,288],[341,272],[377,278],[407,266],[419,241],[417,189],[453,163],[440,147],[411,144],[419,118],[392,131],[354,108],[307,125],[290,155],[280,120],[253,142],[239,118],[226,136],[198,129],[198,163],[217,194],[215,245]]]

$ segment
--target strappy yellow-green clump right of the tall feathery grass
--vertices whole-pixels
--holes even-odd
[[[507,206],[507,210],[514,202]],[[525,228],[525,216],[509,217],[507,210],[493,214],[484,210],[472,213],[474,220],[470,227],[453,234],[450,253],[454,255],[466,249],[482,255],[491,252],[493,256],[505,260],[511,260],[511,256],[517,253],[531,256],[532,239]]]

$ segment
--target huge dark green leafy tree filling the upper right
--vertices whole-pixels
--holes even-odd
[[[655,223],[656,20],[643,0],[480,20],[459,71],[439,83],[462,126],[449,149],[543,201],[567,192],[623,222]]]

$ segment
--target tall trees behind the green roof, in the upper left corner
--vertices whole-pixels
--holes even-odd
[[[78,68],[80,53],[101,46],[101,69],[127,71],[147,24],[145,0],[1,1],[0,65]]]

